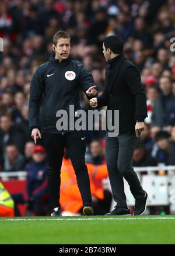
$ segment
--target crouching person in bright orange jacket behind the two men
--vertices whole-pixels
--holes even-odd
[[[106,164],[86,164],[90,178],[90,190],[92,192],[92,205],[95,215],[104,215],[110,210],[111,192],[103,189],[102,181],[108,177]],[[63,212],[73,215],[82,213],[82,200],[79,193],[76,176],[67,153],[61,168],[61,207]],[[69,214],[68,213],[68,214]]]

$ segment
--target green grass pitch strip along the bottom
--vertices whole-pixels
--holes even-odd
[[[0,244],[175,244],[175,216],[0,218]]]

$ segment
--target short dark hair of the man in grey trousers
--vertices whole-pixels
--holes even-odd
[[[120,54],[124,46],[124,42],[120,36],[113,34],[112,36],[107,36],[103,39],[104,47],[106,50],[109,48],[113,53]]]

